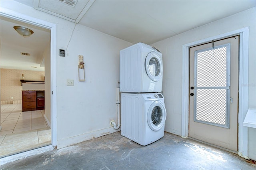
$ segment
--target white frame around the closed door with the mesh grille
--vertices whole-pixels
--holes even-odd
[[[212,36],[196,42],[182,45],[182,137],[188,137],[189,123],[189,48],[240,35],[239,42],[239,96],[238,96],[238,155],[248,158],[248,128],[243,126],[248,110],[248,57],[249,57],[249,27],[232,32]]]

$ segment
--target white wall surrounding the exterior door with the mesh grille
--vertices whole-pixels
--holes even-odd
[[[182,45],[203,40],[226,32],[231,32],[244,27],[250,27],[249,31],[249,108],[256,107],[256,8],[251,8],[233,16],[223,18],[216,22],[195,28],[177,36],[154,43],[163,55],[164,75],[163,93],[167,118],[165,130],[174,134],[181,135],[181,114],[182,114]],[[249,130],[248,150],[255,150],[255,141],[251,136],[255,136],[256,130]],[[254,148],[252,148],[254,146]],[[249,157],[256,160],[254,155],[249,152]]]

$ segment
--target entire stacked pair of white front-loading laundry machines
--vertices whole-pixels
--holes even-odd
[[[164,136],[162,53],[137,43],[120,51],[121,134],[145,146]]]

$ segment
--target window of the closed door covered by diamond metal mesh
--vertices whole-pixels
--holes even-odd
[[[194,121],[229,128],[230,44],[195,51]]]

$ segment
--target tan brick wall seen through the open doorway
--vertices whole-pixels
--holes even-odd
[[[44,81],[44,71],[29,71],[16,69],[1,69],[1,103],[22,101],[22,86],[20,79]],[[13,99],[11,99],[13,97]]]

